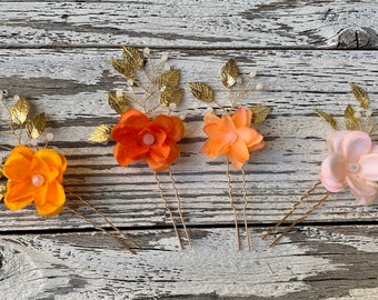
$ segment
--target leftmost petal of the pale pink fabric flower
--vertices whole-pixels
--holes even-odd
[[[329,154],[321,163],[320,180],[330,192],[339,192],[346,187],[345,159],[342,156]]]

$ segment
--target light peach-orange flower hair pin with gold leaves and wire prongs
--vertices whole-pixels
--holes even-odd
[[[249,160],[249,152],[262,149],[265,146],[263,137],[250,126],[265,121],[270,112],[270,108],[262,104],[253,106],[250,109],[243,107],[236,109],[236,106],[239,104],[243,97],[253,90],[260,90],[262,88],[260,83],[252,86],[251,80],[255,76],[256,73],[250,73],[249,80],[242,82],[233,59],[230,59],[221,68],[220,79],[223,87],[229,91],[229,107],[223,107],[215,100],[215,91],[208,84],[202,82],[188,83],[188,87],[195,98],[208,103],[213,103],[216,108],[222,112],[222,116],[218,117],[212,112],[212,107],[208,108],[208,112],[205,114],[203,119],[203,131],[208,139],[203,143],[201,151],[212,159],[216,159],[219,156],[226,157],[228,194],[235,218],[238,250],[240,250],[239,218],[230,177],[230,164],[232,164],[235,170],[241,171],[243,226],[248,249],[250,250],[251,244],[247,220],[248,194],[243,163]]]

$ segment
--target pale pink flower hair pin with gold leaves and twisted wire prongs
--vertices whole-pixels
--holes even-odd
[[[356,198],[356,203],[370,206],[378,196],[378,146],[371,141],[371,134],[377,124],[371,119],[368,109],[369,97],[367,92],[355,83],[350,83],[354,97],[359,103],[356,111],[350,104],[344,111],[346,130],[339,130],[336,120],[330,114],[315,110],[336,131],[328,137],[328,156],[321,163],[320,181],[306,192],[291,210],[273,227],[262,239],[267,239],[294,211],[318,188],[324,187],[326,194],[302,217],[296,219],[271,243],[275,246],[297,223],[304,221],[309,214],[326,202],[332,192],[341,192],[346,188]]]

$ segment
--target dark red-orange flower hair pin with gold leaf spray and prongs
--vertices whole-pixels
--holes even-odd
[[[113,156],[121,167],[139,160],[145,160],[155,172],[155,179],[160,197],[167,209],[180,248],[183,248],[176,218],[169,206],[161,172],[168,171],[171,187],[177,200],[177,210],[187,241],[191,239],[181,211],[181,199],[176,187],[171,170],[172,163],[179,158],[180,149],[177,143],[182,139],[185,127],[181,118],[172,116],[172,111],[181,101],[183,89],[179,87],[180,70],[172,69],[166,63],[168,57],[162,54],[160,60],[152,60],[150,50],[143,53],[133,47],[122,48],[123,58],[112,60],[116,71],[127,79],[128,90],[111,91],[108,103],[120,114],[117,124],[101,124],[91,133],[89,140],[94,142],[116,141]],[[143,83],[147,81],[147,84]],[[141,96],[142,94],[142,96]],[[157,100],[157,101],[156,101]],[[139,109],[131,108],[138,107]],[[159,113],[158,116],[156,116]],[[155,114],[152,119],[148,116]]]

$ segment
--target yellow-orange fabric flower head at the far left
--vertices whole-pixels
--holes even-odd
[[[34,201],[41,216],[60,213],[66,202],[61,184],[66,168],[66,158],[52,149],[34,152],[26,146],[16,147],[2,168],[2,173],[9,179],[6,206],[16,210]]]

